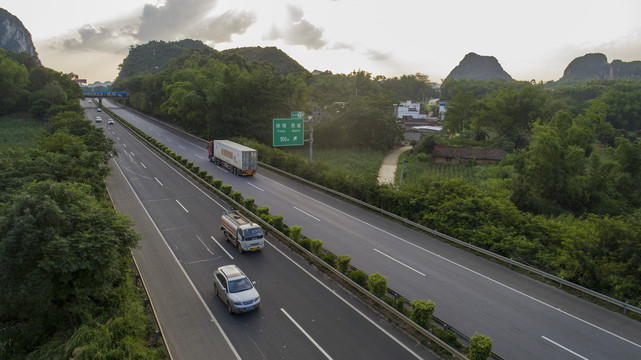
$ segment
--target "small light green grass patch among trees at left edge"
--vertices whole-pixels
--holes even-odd
[[[33,147],[42,125],[42,120],[29,114],[0,116],[0,151]]]

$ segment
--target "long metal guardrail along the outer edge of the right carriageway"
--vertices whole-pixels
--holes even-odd
[[[577,290],[577,291],[579,291],[579,292],[581,292],[581,293],[583,293],[583,294],[585,294],[585,295],[592,296],[592,297],[594,297],[594,298],[596,298],[596,299],[599,299],[599,300],[605,301],[605,302],[607,302],[607,303],[609,303],[609,304],[612,304],[612,305],[615,305],[615,306],[617,306],[617,307],[620,307],[620,308],[623,310],[623,313],[624,313],[624,314],[625,314],[627,311],[632,311],[632,312],[634,312],[634,313],[637,313],[637,314],[640,314],[640,315],[641,315],[641,309],[640,309],[640,308],[638,308],[638,307],[636,307],[636,306],[633,306],[633,305],[630,305],[630,304],[628,304],[628,303],[626,303],[626,302],[623,302],[623,301],[621,301],[621,300],[614,299],[614,298],[612,298],[612,297],[610,297],[610,296],[607,296],[607,295],[601,294],[601,293],[599,293],[599,292],[597,292],[597,291],[594,291],[594,290],[588,289],[588,288],[586,288],[586,287],[583,287],[583,286],[581,286],[581,285],[575,284],[575,283],[573,283],[573,282],[567,281],[567,280],[565,280],[565,279],[563,279],[563,278],[560,278],[560,277],[558,277],[558,276],[554,276],[554,275],[552,275],[552,274],[548,274],[548,273],[546,273],[545,271],[539,270],[539,269],[534,268],[534,267],[531,267],[531,266],[529,266],[529,265],[525,265],[525,264],[523,264],[523,263],[520,263],[520,262],[518,262],[518,261],[512,260],[512,259],[507,258],[507,257],[505,257],[505,256],[502,256],[502,255],[499,255],[499,254],[495,254],[495,253],[493,253],[493,252],[491,252],[491,251],[489,251],[489,250],[483,249],[483,248],[478,247],[478,246],[476,246],[476,245],[472,245],[471,243],[467,243],[467,242],[465,242],[465,241],[459,240],[459,239],[454,238],[454,237],[452,237],[452,236],[445,235],[445,234],[440,233],[440,232],[438,232],[438,231],[436,231],[436,230],[434,230],[434,229],[430,229],[430,228],[428,228],[428,227],[426,227],[426,226],[423,226],[423,225],[421,225],[421,224],[415,223],[415,222],[413,222],[413,221],[411,221],[411,220],[407,220],[406,218],[403,218],[403,217],[401,217],[401,216],[398,216],[398,215],[396,215],[396,214],[394,214],[394,213],[391,213],[391,212],[389,212],[389,211],[387,211],[387,210],[384,210],[384,209],[381,209],[381,208],[377,208],[377,207],[375,207],[375,206],[373,206],[373,205],[371,205],[371,204],[369,204],[369,203],[366,203],[366,202],[364,202],[364,201],[362,201],[362,200],[359,200],[359,199],[353,198],[353,197],[351,197],[351,196],[345,195],[345,194],[343,194],[343,193],[340,193],[340,192],[338,192],[338,191],[336,191],[336,190],[333,190],[333,189],[330,189],[330,188],[328,188],[328,187],[325,187],[325,186],[322,186],[322,185],[316,184],[316,183],[314,183],[314,182],[312,182],[312,181],[309,181],[309,180],[307,180],[307,179],[303,179],[303,178],[301,178],[300,176],[292,175],[292,174],[290,174],[290,173],[287,173],[287,172],[285,172],[285,171],[283,171],[283,170],[280,170],[280,169],[278,169],[278,168],[276,168],[276,167],[273,167],[273,166],[271,166],[271,165],[268,165],[268,164],[265,164],[265,163],[262,163],[262,162],[260,162],[259,164],[260,164],[260,166],[262,166],[262,167],[268,168],[268,169],[270,169],[270,170],[272,170],[272,171],[278,172],[278,173],[280,173],[280,174],[283,174],[283,175],[285,175],[285,176],[288,176],[288,177],[290,177],[290,178],[293,178],[293,179],[295,179],[295,180],[297,180],[297,181],[300,181],[300,182],[303,182],[303,183],[305,183],[305,184],[308,184],[308,185],[314,186],[314,187],[316,187],[316,188],[318,188],[318,189],[320,189],[320,190],[323,190],[323,191],[325,191],[325,192],[329,192],[329,193],[331,193],[331,194],[333,194],[333,195],[336,195],[336,196],[339,196],[339,197],[341,197],[341,198],[343,198],[343,199],[349,200],[349,201],[351,201],[351,202],[353,202],[353,203],[356,203],[356,204],[358,204],[358,205],[360,205],[360,206],[363,206],[363,207],[366,207],[366,208],[368,208],[368,209],[370,209],[370,210],[373,210],[373,211],[379,212],[379,213],[381,213],[381,214],[383,214],[383,215],[386,215],[386,216],[388,216],[388,217],[391,217],[391,218],[393,218],[393,219],[395,219],[395,220],[398,220],[398,221],[400,221],[400,222],[403,222],[403,223],[405,223],[405,224],[407,224],[407,225],[410,225],[410,226],[412,226],[412,227],[415,227],[415,228],[421,229],[421,230],[423,230],[423,231],[425,231],[425,232],[427,232],[427,233],[429,233],[429,234],[431,234],[431,235],[433,235],[433,236],[439,237],[439,238],[444,239],[444,240],[447,240],[447,241],[451,241],[451,242],[453,242],[453,243],[455,243],[455,244],[458,244],[458,245],[460,245],[460,246],[466,247],[466,248],[468,248],[468,249],[470,249],[470,250],[474,250],[474,251],[476,251],[476,252],[478,252],[478,253],[481,253],[481,254],[483,254],[483,255],[489,256],[489,257],[491,257],[491,258],[493,258],[493,259],[495,259],[495,260],[498,260],[498,261],[500,261],[500,262],[503,262],[503,263],[509,264],[509,265],[511,265],[511,266],[518,267],[518,268],[523,269],[523,270],[525,270],[525,271],[528,271],[528,272],[530,272],[530,273],[533,273],[533,274],[536,274],[536,275],[538,275],[538,276],[541,276],[541,277],[543,277],[543,278],[545,278],[545,279],[547,279],[547,280],[550,280],[550,281],[556,282],[556,283],[558,283],[558,284],[559,284],[559,286],[561,286],[561,287],[562,287],[562,286],[567,286],[567,287],[572,288],[572,289],[574,289],[574,290]]]

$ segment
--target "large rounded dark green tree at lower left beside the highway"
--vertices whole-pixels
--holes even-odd
[[[88,186],[25,185],[0,206],[1,342],[20,349],[79,325],[104,304],[138,241],[128,218]]]

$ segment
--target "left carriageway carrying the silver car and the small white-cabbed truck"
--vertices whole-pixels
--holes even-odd
[[[222,201],[83,105],[116,142],[108,189],[144,236],[134,258],[172,358],[434,358],[277,241],[239,254],[220,230]],[[259,310],[232,315],[216,297],[213,272],[227,264],[256,282]]]

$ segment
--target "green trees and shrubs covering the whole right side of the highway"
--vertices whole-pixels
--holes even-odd
[[[157,74],[119,79],[114,88],[130,92],[128,105],[200,137],[256,148],[264,163],[622,301],[641,302],[638,80],[546,88],[446,79],[444,131],[401,158],[408,160],[402,187],[400,174],[395,185],[377,184],[377,170],[368,169],[380,160],[368,159],[364,167],[338,162],[355,148],[382,159],[402,135],[392,104],[437,96],[425,75],[276,76],[266,63],[193,52]],[[312,164],[307,150],[271,146],[271,120],[294,110],[317,114]],[[436,144],[508,155],[495,165],[434,164]],[[340,155],[320,160],[325,149]]]

